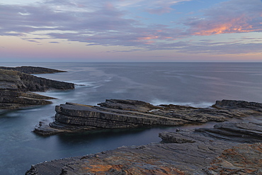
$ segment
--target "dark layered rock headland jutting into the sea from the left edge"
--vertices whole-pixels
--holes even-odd
[[[19,70],[19,71],[16,71]],[[28,106],[52,103],[48,96],[41,96],[30,91],[50,89],[74,89],[74,84],[35,77],[30,74],[62,72],[43,67],[1,67],[0,69],[0,110],[24,108]]]

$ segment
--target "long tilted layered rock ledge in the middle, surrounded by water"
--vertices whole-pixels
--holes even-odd
[[[56,106],[55,121],[40,122],[34,132],[54,135],[60,132],[84,130],[135,128],[144,126],[176,126],[188,123],[222,122],[227,118],[262,115],[262,104],[246,101],[217,101],[212,108],[189,106],[153,106],[144,101],[106,100],[100,106],[66,103]]]

